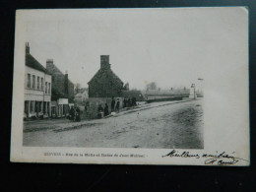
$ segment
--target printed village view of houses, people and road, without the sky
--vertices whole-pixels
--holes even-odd
[[[203,149],[203,91],[161,89],[149,82],[130,89],[98,55],[88,87],[73,83],[54,60],[46,67],[26,42],[24,146]],[[112,64],[114,65],[114,64]]]

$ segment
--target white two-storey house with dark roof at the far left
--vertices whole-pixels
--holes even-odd
[[[30,53],[26,43],[25,55],[25,117],[51,115],[51,75]]]

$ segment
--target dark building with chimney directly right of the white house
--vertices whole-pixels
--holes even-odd
[[[47,59],[46,69],[52,76],[52,116],[66,116],[70,109],[70,103],[74,101],[74,84],[69,80],[67,72],[63,74],[57,68],[53,59]]]

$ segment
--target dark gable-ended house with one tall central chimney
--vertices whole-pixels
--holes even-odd
[[[100,55],[100,68],[88,85],[89,97],[122,96],[123,82],[111,70],[109,55]]]

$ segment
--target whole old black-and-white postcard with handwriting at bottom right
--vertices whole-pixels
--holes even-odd
[[[16,12],[11,161],[249,165],[244,7]]]

